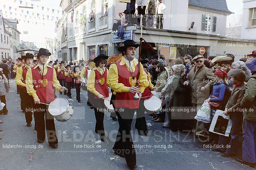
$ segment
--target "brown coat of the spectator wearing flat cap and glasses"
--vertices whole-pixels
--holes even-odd
[[[214,83],[215,76],[211,69],[204,65],[197,70],[196,74],[195,69],[196,66],[187,76],[187,82],[191,87],[191,102],[204,103],[204,100],[208,99],[211,94],[210,87]],[[205,87],[206,90],[202,91],[201,87]]]

